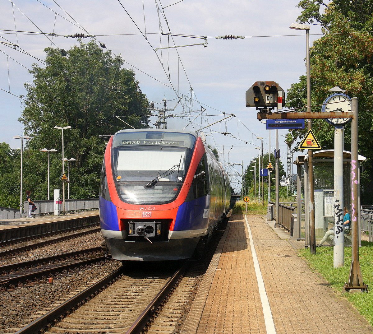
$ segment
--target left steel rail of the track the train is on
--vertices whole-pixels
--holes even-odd
[[[90,298],[94,293],[103,288],[105,285],[115,280],[122,273],[122,271],[123,267],[116,269],[106,277],[102,278],[100,281],[94,283],[90,287],[79,292],[74,297],[71,297],[70,299],[66,300],[66,302],[63,302],[61,305],[57,306],[57,308],[54,308],[53,310],[50,310],[46,314],[35,319],[30,324],[26,325],[21,330],[17,331],[15,334],[35,334],[41,330],[46,329],[56,319],[65,315],[66,312],[69,312],[78,304]]]

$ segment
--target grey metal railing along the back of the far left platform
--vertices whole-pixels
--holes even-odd
[[[54,213],[54,200],[34,201],[37,210],[33,213],[35,215],[50,215]],[[65,212],[75,212],[84,210],[98,210],[98,199],[73,199],[65,200]],[[23,216],[28,213],[28,202],[23,203]],[[0,219],[17,219],[19,217],[19,210],[7,209],[0,207]]]

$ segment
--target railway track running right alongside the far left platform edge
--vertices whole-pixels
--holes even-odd
[[[81,237],[83,235],[96,233],[100,231],[99,224],[91,224],[84,228],[69,228],[56,232],[48,232],[45,234],[34,235],[32,237],[18,238],[0,243],[0,257],[8,257],[10,255],[24,252],[26,250],[43,247],[49,244],[57,243],[72,238]]]

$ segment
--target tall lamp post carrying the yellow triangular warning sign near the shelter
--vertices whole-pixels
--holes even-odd
[[[311,74],[310,74],[310,29],[311,26],[306,24],[292,23],[289,28],[296,30],[305,30],[306,36],[306,74],[307,74],[307,112],[311,112]],[[307,120],[307,130],[312,129],[312,119]],[[316,230],[315,230],[315,194],[314,194],[314,178],[313,178],[313,152],[308,150],[307,154],[308,165],[308,192],[309,202],[308,215],[310,224],[310,251],[311,254],[316,254]]]

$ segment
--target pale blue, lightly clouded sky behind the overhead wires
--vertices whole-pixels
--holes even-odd
[[[264,153],[268,150],[268,131],[257,120],[255,108],[245,107],[245,91],[255,81],[276,81],[286,91],[305,73],[304,32],[289,29],[300,14],[298,1],[15,0],[14,5],[9,0],[0,1],[0,41],[19,45],[15,50],[0,43],[0,142],[5,141],[12,148],[21,145],[20,140],[12,137],[23,134],[18,122],[23,107],[17,96],[25,94],[25,82],[32,83],[28,69],[34,62],[42,65],[35,57],[44,59],[46,47],[68,50],[78,43],[76,38],[63,35],[87,31],[113,54],[121,54],[125,67],[134,69],[142,92],[156,107],[162,108],[166,99],[167,108],[173,109],[177,96],[182,96],[182,102],[170,112],[177,117],[167,119],[167,128],[186,127],[195,131],[220,121],[226,114],[234,114],[236,117],[216,123],[204,132],[211,146],[219,150],[220,161],[241,164],[243,160],[244,168],[258,155],[255,147],[261,141],[256,137],[263,137]],[[6,29],[54,32],[59,36],[15,34]],[[169,29],[173,36],[160,35],[160,31]],[[207,46],[154,51],[167,47],[167,43],[204,43],[203,38],[176,35],[207,36]],[[214,38],[222,35],[246,38]],[[320,29],[312,26],[311,45],[320,37]],[[170,88],[171,84],[177,93]],[[273,152],[275,131],[271,132]],[[279,131],[284,164],[286,133]],[[234,169],[241,172],[241,166],[230,167],[233,174]]]

